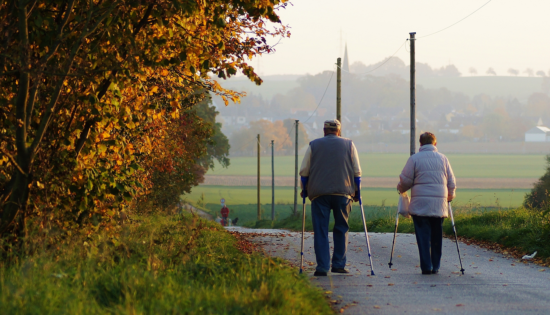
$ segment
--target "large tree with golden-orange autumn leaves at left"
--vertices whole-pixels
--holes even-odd
[[[272,52],[268,36],[289,35],[278,5],[3,1],[0,235],[24,233],[29,217],[112,217],[145,189],[138,161],[202,100],[197,88],[238,101],[208,73],[261,83],[245,60]]]

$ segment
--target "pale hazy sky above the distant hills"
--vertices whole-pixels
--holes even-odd
[[[488,0],[291,0],[281,20],[292,36],[276,53],[251,61],[261,75],[317,74],[332,70],[348,43],[350,64],[373,64],[392,55],[416,32],[420,37],[447,27],[474,12]],[[456,65],[463,76],[473,66],[477,75],[493,67],[550,70],[550,1],[492,0],[469,18],[416,41],[416,61],[441,67]],[[340,50],[342,49],[342,50]],[[409,64],[403,46],[396,54]]]

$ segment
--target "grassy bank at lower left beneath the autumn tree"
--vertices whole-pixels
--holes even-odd
[[[73,237],[0,263],[3,314],[330,314],[277,258],[244,254],[219,225],[139,218],[120,237]]]

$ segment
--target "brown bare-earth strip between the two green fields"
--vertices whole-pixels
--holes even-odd
[[[206,175],[201,185],[255,186],[256,176]],[[456,185],[466,189],[530,189],[536,178],[456,178]],[[365,188],[395,188],[397,177],[363,177],[361,185]],[[271,186],[271,177],[260,178],[262,186]],[[294,187],[293,176],[276,176],[276,186]]]

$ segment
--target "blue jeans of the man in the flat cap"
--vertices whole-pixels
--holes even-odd
[[[334,251],[332,267],[345,267],[345,253],[348,251],[348,216],[351,200],[346,196],[322,195],[311,201],[311,221],[313,223],[313,249],[320,272],[328,272],[331,267],[331,253],[328,245],[328,221],[333,210],[334,229],[332,234]]]

